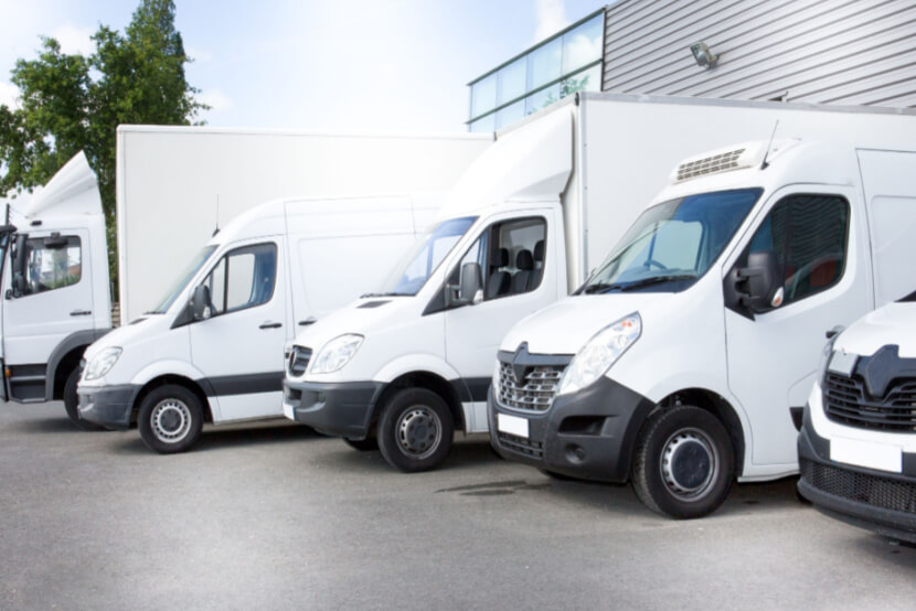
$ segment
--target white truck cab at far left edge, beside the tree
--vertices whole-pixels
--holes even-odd
[[[13,204],[17,204],[13,201]],[[4,400],[63,399],[76,412],[83,351],[111,328],[105,215],[95,174],[79,152],[11,215],[3,234]]]

